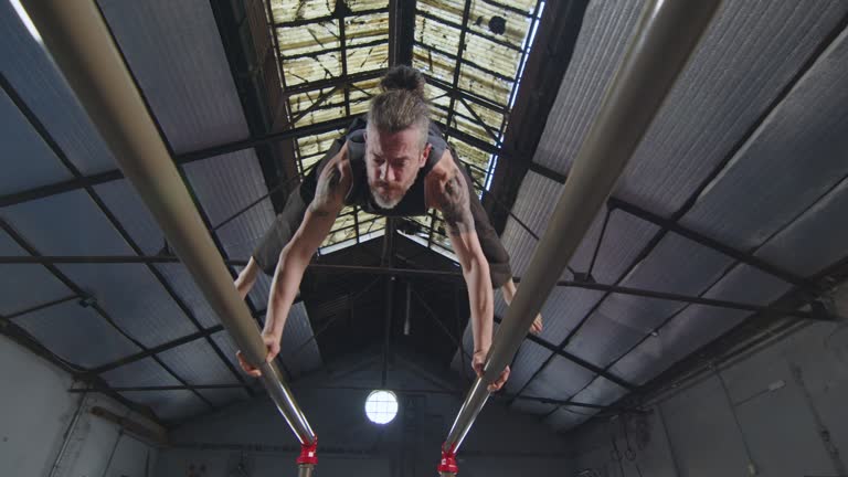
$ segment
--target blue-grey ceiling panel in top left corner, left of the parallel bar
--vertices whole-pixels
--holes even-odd
[[[68,159],[84,173],[115,169],[115,161],[88,116],[8,1],[0,2],[0,35],[3,75]]]

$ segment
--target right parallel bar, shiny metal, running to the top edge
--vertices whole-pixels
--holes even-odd
[[[550,224],[533,254],[524,283],[507,310],[443,451],[455,453],[495,381],[530,329],[547,297],[615,187],[662,100],[683,68],[719,1],[648,2],[586,139],[577,153]],[[615,140],[611,140],[615,138]],[[523,290],[532,292],[523,292]],[[530,294],[533,293],[534,296]]]

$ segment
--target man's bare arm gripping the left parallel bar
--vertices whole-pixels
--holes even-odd
[[[346,146],[321,171],[315,199],[307,208],[300,227],[279,254],[279,262],[271,283],[265,327],[262,330],[262,339],[268,347],[267,361],[273,360],[279,352],[279,341],[283,338],[286,318],[297,296],[304,272],[315,252],[330,233],[343,206],[344,193],[348,189],[350,189],[350,169],[347,163]],[[247,374],[259,375],[259,370],[247,363],[241,352],[239,361]]]

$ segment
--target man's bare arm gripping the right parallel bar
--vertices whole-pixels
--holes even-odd
[[[463,267],[463,276],[468,287],[474,335],[471,365],[477,375],[483,375],[483,367],[491,348],[495,304],[489,263],[483,254],[480,241],[474,227],[470,193],[462,172],[458,168],[454,168],[449,172],[449,179],[441,188],[436,203],[445,218],[447,236]],[[497,381],[489,384],[489,391],[499,390],[508,378],[509,367],[504,370]]]

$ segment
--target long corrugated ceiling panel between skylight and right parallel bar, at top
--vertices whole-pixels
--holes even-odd
[[[595,117],[642,10],[642,1],[590,2],[533,161],[565,172]]]

